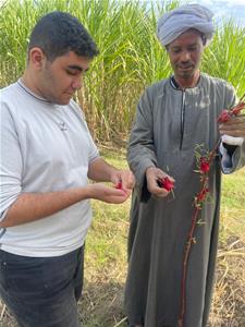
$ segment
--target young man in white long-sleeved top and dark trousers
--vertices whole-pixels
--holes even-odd
[[[0,294],[22,327],[81,326],[89,199],[123,203],[134,184],[99,157],[72,100],[97,55],[76,17],[49,13],[33,29],[23,76],[0,94]]]

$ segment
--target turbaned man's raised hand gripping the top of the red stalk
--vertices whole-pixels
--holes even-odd
[[[221,135],[245,138],[245,114],[232,117],[229,121],[221,123],[219,131]]]

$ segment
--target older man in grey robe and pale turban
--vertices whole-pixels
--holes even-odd
[[[218,241],[220,166],[230,173],[245,164],[244,118],[217,124],[220,111],[235,104],[234,89],[199,71],[204,48],[213,35],[211,17],[208,9],[192,4],[164,14],[158,23],[158,37],[174,73],[142,96],[128,144],[128,164],[136,175],[125,287],[130,326],[207,324]],[[199,174],[194,172],[195,148],[203,145],[211,152],[220,134],[228,134],[226,140],[235,145],[229,146],[225,166],[216,156],[209,171],[212,202],[205,202],[199,213],[203,223],[194,233],[183,306],[184,253],[194,196],[200,187]],[[159,186],[158,180],[167,175],[175,180],[174,197]]]

